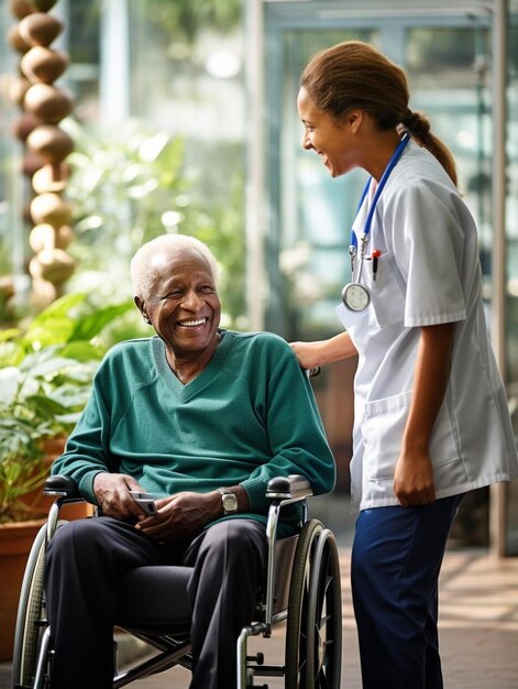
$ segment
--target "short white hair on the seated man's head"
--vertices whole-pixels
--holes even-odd
[[[199,254],[209,270],[214,283],[218,281],[218,263],[210,249],[196,237],[188,234],[161,234],[143,244],[135,253],[130,264],[133,294],[140,298],[148,298],[151,286],[159,270],[159,265],[153,265],[158,254],[174,258],[184,252]]]

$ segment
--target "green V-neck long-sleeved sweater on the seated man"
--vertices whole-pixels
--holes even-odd
[[[113,347],[53,473],[71,477],[95,503],[99,472],[133,475],[164,497],[241,484],[250,516],[265,515],[273,477],[334,486],[335,467],[311,386],[290,347],[268,332],[221,330],[209,365],[183,385],[158,337]]]

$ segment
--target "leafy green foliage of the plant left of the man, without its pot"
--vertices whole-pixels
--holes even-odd
[[[45,441],[76,424],[111,344],[102,336],[130,308],[69,294],[26,327],[0,331],[0,523],[33,516],[23,496],[46,475]]]

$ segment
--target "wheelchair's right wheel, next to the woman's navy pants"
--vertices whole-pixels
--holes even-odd
[[[302,528],[286,625],[286,689],[340,689],[342,602],[333,534],[318,520]]]

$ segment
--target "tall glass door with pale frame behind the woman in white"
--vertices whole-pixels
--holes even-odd
[[[340,41],[374,44],[407,70],[414,110],[422,110],[452,151],[460,188],[480,228],[485,300],[492,287],[492,12],[485,2],[323,2],[257,0],[262,8],[264,327],[288,340],[320,339],[341,326],[334,316],[350,278],[349,237],[365,175],[332,179],[301,147],[296,97],[311,55]],[[319,407],[349,490],[354,362],[315,380]],[[488,540],[487,491],[478,491],[460,538]]]

